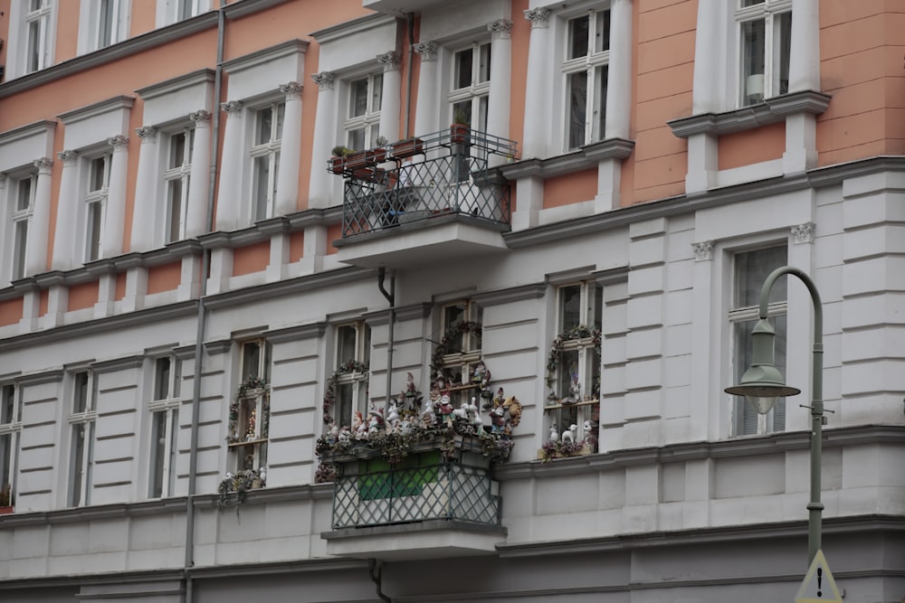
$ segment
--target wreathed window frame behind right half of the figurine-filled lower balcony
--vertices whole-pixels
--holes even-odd
[[[454,316],[452,315],[453,312]],[[469,331],[462,333],[462,339],[458,342],[448,342],[446,344],[447,353],[443,354],[443,360],[440,363],[440,368],[443,372],[452,373],[452,379],[445,382],[445,387],[441,387],[440,390],[449,390],[452,406],[461,408],[462,404],[471,400],[473,396],[478,395],[478,391],[472,386],[472,376],[478,363],[482,362],[483,308],[472,299],[460,299],[444,303],[440,307],[439,315],[440,336],[434,338],[436,342],[443,341],[446,333],[455,325],[460,325],[463,322],[481,325],[481,334]],[[458,379],[456,379],[457,375],[459,376]],[[433,385],[436,385],[436,378],[436,374],[431,375]]]

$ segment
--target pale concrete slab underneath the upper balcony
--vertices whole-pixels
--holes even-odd
[[[335,240],[337,259],[362,268],[402,269],[441,259],[501,253],[509,248],[502,233],[509,224],[464,214],[438,215],[426,221],[399,224],[392,230]]]

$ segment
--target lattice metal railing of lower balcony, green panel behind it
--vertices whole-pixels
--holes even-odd
[[[374,464],[361,461],[357,474],[338,476],[334,529],[433,519],[500,525],[488,469],[443,460],[386,470],[372,470]]]

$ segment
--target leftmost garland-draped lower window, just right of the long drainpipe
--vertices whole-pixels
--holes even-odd
[[[248,357],[251,346],[257,346],[257,362]],[[241,385],[251,377],[271,381],[271,344],[265,339],[253,339],[239,345],[239,375]],[[230,462],[233,472],[260,470],[267,466],[267,445],[270,437],[270,390],[246,391],[238,400],[237,433],[229,434],[227,448],[233,453]],[[253,430],[249,417],[254,414]]]

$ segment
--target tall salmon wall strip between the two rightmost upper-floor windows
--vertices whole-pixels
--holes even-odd
[[[633,3],[634,39],[638,41],[633,69],[635,139],[633,193],[623,205],[684,193],[688,172],[687,145],[674,137],[667,119],[691,115],[694,42],[698,18],[696,0],[655,0]]]

